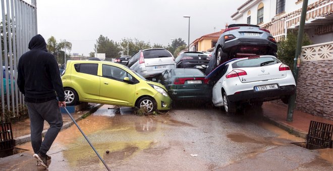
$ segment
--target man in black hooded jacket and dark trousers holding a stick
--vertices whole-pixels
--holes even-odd
[[[18,63],[17,84],[28,107],[33,156],[37,165],[40,163],[47,168],[50,156],[46,152],[63,126],[59,107],[66,107],[65,93],[57,60],[47,52],[44,38],[39,34],[34,36],[28,48],[30,51],[24,53]],[[42,141],[44,120],[50,127]]]

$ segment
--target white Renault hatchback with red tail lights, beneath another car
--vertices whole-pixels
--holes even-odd
[[[281,99],[288,103],[296,83],[289,66],[271,55],[238,58],[215,68],[206,78],[213,84],[214,106],[234,114],[244,104]]]

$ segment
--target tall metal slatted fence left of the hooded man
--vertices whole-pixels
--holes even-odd
[[[16,84],[17,63],[20,56],[27,52],[30,39],[37,34],[36,0],[31,5],[22,0],[1,0],[1,36],[0,63],[3,71],[1,80],[1,107],[0,120],[5,119],[5,112],[10,118],[19,115],[23,95]]]

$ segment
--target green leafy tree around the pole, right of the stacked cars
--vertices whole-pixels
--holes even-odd
[[[287,38],[278,42],[278,58],[288,65],[291,69],[294,66],[294,57],[296,53],[296,45],[297,45],[297,37],[298,31],[289,31],[287,34]],[[303,42],[302,46],[311,45],[312,41],[309,36],[304,33],[303,34]]]

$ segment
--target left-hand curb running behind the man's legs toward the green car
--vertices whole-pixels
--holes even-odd
[[[95,106],[95,107],[93,107],[93,108],[90,108],[89,111],[87,111],[86,113],[84,113],[82,116],[85,116],[85,115],[87,115],[87,114],[89,114],[89,113],[93,113],[93,112],[95,112],[95,111],[96,111],[98,108],[100,108],[101,106],[103,106],[103,104],[99,104],[99,105],[97,105],[97,106]],[[90,114],[89,114],[89,115],[90,115]],[[82,120],[82,119],[83,119],[82,116],[79,117],[79,118],[77,118],[77,119],[75,119],[75,122],[78,122],[78,121]],[[72,126],[73,124],[74,124],[73,121],[66,122],[66,123],[63,125],[63,127],[61,128],[60,131],[66,129],[66,128],[69,128],[69,127]],[[44,129],[44,130],[42,131],[42,136],[45,136],[46,132],[47,132],[47,129]],[[22,135],[22,136],[20,136],[20,137],[15,138],[15,145],[23,144],[23,143],[25,143],[25,142],[29,142],[29,141],[31,141],[31,134]]]

